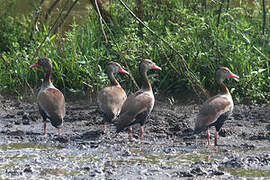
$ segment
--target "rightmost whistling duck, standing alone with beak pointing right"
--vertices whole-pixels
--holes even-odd
[[[227,67],[220,67],[215,73],[215,80],[219,84],[221,93],[208,99],[203,103],[197,120],[195,122],[194,133],[200,133],[206,130],[207,142],[210,145],[210,134],[208,128],[215,126],[215,146],[217,145],[218,132],[220,131],[225,120],[231,115],[233,111],[233,100],[232,96],[225,86],[223,81],[226,78],[239,78],[233,74]]]

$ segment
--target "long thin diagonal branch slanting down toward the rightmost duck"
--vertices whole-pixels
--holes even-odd
[[[180,52],[178,52],[176,49],[174,49],[167,41],[165,41],[163,38],[161,38],[157,33],[155,33],[152,29],[150,29],[146,24],[144,24],[144,22],[142,22],[142,20],[140,20],[131,10],[130,8],[122,1],[119,0],[120,3],[122,4],[122,6],[124,6],[129,13],[137,20],[139,21],[148,31],[150,31],[153,35],[155,35],[158,39],[160,39],[163,43],[165,43],[170,49],[172,49],[179,57],[180,57],[180,62],[182,63],[183,68],[185,69],[186,73],[185,76],[187,77],[187,79],[192,82],[194,84],[194,86],[197,86],[202,94],[206,97],[208,97],[208,93],[206,91],[206,89],[203,88],[203,86],[201,85],[199,79],[197,78],[197,76],[192,72],[192,70],[190,70],[187,66],[187,63],[184,59],[184,57],[182,56],[182,54],[180,54]],[[194,89],[194,88],[193,88]],[[197,92],[197,91],[196,91]],[[196,93],[197,94],[197,93]],[[200,96],[198,96],[200,98]]]

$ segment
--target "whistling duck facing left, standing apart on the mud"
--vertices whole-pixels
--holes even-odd
[[[46,135],[46,119],[48,118],[51,124],[58,128],[58,136],[60,136],[60,127],[63,125],[65,116],[65,98],[51,82],[52,61],[47,57],[42,57],[30,68],[40,66],[43,67],[45,76],[37,95],[37,103],[44,121],[44,135]]]

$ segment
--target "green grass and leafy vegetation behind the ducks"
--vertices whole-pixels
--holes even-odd
[[[270,23],[266,23],[263,34],[262,5],[258,1],[241,1],[239,6],[233,1],[228,9],[225,3],[218,25],[220,1],[206,1],[206,7],[199,0],[143,1],[143,22],[177,52],[145,27],[141,29],[119,1],[103,1],[113,16],[113,23],[103,24],[108,42],[92,6],[83,22],[73,21],[71,30],[53,33],[52,25],[40,18],[34,26],[38,31],[32,34],[35,17],[11,16],[9,12],[14,11],[16,1],[0,0],[1,91],[22,95],[31,88],[37,89],[42,71],[28,67],[37,57],[48,56],[54,61],[53,82],[64,93],[95,94],[108,82],[103,70],[108,61],[124,65],[139,82],[137,65],[142,58],[152,59],[163,69],[149,73],[155,91],[178,96],[199,92],[197,85],[192,87],[194,79],[185,70],[183,57],[209,92],[217,92],[215,69],[227,66],[240,76],[239,82],[226,81],[236,102],[270,101]],[[135,2],[125,1],[134,12]],[[268,14],[269,5],[266,4]],[[266,18],[269,20],[269,16]],[[127,91],[134,91],[129,78],[121,75],[118,79]]]

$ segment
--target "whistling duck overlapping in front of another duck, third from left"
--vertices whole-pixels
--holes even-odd
[[[147,78],[147,71],[150,69],[161,70],[160,67],[148,59],[144,59],[140,62],[139,72],[142,77],[142,86],[140,90],[129,95],[125,101],[120,112],[119,120],[116,123],[117,133],[129,127],[129,137],[131,138],[131,125],[140,123],[140,139],[143,139],[144,123],[152,111],[155,102],[152,87]]]

